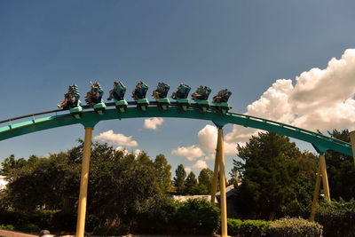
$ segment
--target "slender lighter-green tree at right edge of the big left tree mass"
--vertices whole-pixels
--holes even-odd
[[[165,155],[158,154],[155,157],[154,168],[164,192],[168,192],[170,190],[171,183],[171,165],[168,163]]]

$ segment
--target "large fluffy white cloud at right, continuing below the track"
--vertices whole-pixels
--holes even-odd
[[[355,129],[355,49],[344,51],[340,59],[330,59],[327,67],[312,68],[291,79],[278,79],[263,95],[248,105],[247,115],[284,122],[307,130]],[[216,128],[205,126],[198,132],[202,151],[212,156]],[[235,154],[257,130],[233,125],[225,135],[225,153]],[[191,146],[189,146],[191,147]],[[187,147],[186,147],[187,148]]]

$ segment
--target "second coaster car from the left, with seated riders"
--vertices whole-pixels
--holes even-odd
[[[86,94],[86,103],[89,107],[93,107],[95,112],[99,115],[103,115],[106,110],[106,105],[102,101],[102,95],[104,91],[102,90],[99,83],[91,83],[91,91]]]

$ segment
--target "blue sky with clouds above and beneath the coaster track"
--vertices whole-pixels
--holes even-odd
[[[84,94],[90,81],[108,91],[121,80],[132,91],[142,80],[150,91],[161,81],[172,89],[182,82],[193,90],[208,85],[212,94],[228,88],[233,111],[239,113],[310,130],[349,128],[355,80],[342,74],[353,70],[354,53],[344,51],[354,48],[354,7],[353,1],[320,0],[1,1],[0,120],[55,109],[68,84],[77,84]],[[343,57],[348,67],[341,61],[329,64],[333,57]],[[331,81],[313,67],[345,79]],[[325,87],[316,91],[319,82]],[[339,89],[331,100],[336,103],[317,97],[331,88]],[[305,106],[314,101],[319,101],[317,109]],[[318,110],[321,106],[327,106],[327,113]],[[138,146],[130,151],[165,154],[173,170],[179,163],[191,167],[198,161],[212,169],[205,157],[210,155],[206,137],[198,137],[201,130],[209,135],[207,124],[212,125],[164,119],[156,130],[147,130],[144,119],[100,122],[94,136],[107,130],[131,136]],[[253,132],[225,128],[231,146]],[[76,145],[76,138],[83,138],[80,125],[11,138],[0,143],[0,161],[10,154],[20,158],[65,151]],[[197,147],[205,156],[188,161],[172,154],[177,147]],[[227,171],[236,157],[230,153]]]

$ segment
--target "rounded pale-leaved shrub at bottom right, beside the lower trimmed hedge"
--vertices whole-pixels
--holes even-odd
[[[270,224],[271,237],[319,237],[323,227],[302,218],[282,218]]]

